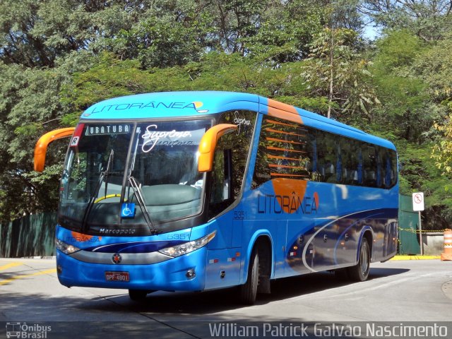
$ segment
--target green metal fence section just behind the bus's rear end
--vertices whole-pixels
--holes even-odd
[[[398,253],[399,254],[420,254],[419,235],[419,214],[412,210],[412,196],[400,195],[398,210]]]

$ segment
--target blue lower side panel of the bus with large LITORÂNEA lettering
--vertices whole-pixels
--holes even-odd
[[[271,278],[356,264],[365,231],[371,233],[372,262],[394,256],[398,239],[398,194],[384,189],[379,189],[378,194],[375,191],[309,182],[303,196],[296,189],[285,195],[275,191],[268,182],[244,194],[235,208],[237,215],[242,210],[246,215],[242,221],[244,246],[240,249],[246,261],[240,283],[246,281],[247,258],[256,234],[268,234],[272,240]],[[359,196],[362,201],[351,203],[351,196]]]

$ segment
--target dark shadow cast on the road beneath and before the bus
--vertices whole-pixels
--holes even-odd
[[[369,280],[378,281],[380,278],[407,271],[408,269],[399,268],[371,268]],[[265,305],[269,302],[283,301],[293,297],[309,297],[315,292],[328,292],[328,290],[352,284],[354,283],[337,280],[333,273],[328,272],[279,279],[272,283],[270,295],[258,295],[256,305]],[[77,297],[73,293],[67,297],[52,295],[51,291],[45,294],[37,294],[32,291],[20,294],[2,294],[0,320],[10,319],[9,316],[20,314],[18,317],[20,320],[69,321],[72,320],[73,314],[78,314],[82,315],[82,319],[78,320],[86,321],[137,321],[140,319],[142,321],[145,318],[159,319],[158,321],[163,319],[165,319],[164,321],[169,319],[180,321],[186,319],[185,316],[198,321],[208,319],[227,321],[225,319],[227,315],[217,315],[217,313],[235,311],[243,307],[237,302],[237,289],[235,288],[198,293],[155,292],[148,295],[143,302],[131,301],[126,290],[121,295],[113,293],[117,293],[117,290],[112,291],[112,294],[109,295],[109,290],[105,289],[83,289],[83,297]],[[49,310],[54,311],[49,312]],[[270,316],[269,314],[269,318]]]

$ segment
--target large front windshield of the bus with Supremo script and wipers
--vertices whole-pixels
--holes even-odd
[[[84,231],[154,229],[199,213],[205,174],[197,151],[210,126],[206,119],[80,124],[61,179],[60,222]],[[126,203],[134,210],[121,215]]]

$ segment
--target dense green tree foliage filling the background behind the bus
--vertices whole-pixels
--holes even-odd
[[[452,222],[452,1],[4,0],[0,219],[54,210],[67,140],[37,138],[89,105],[164,90],[256,93],[396,143],[425,226]],[[371,20],[381,30],[364,37]]]

